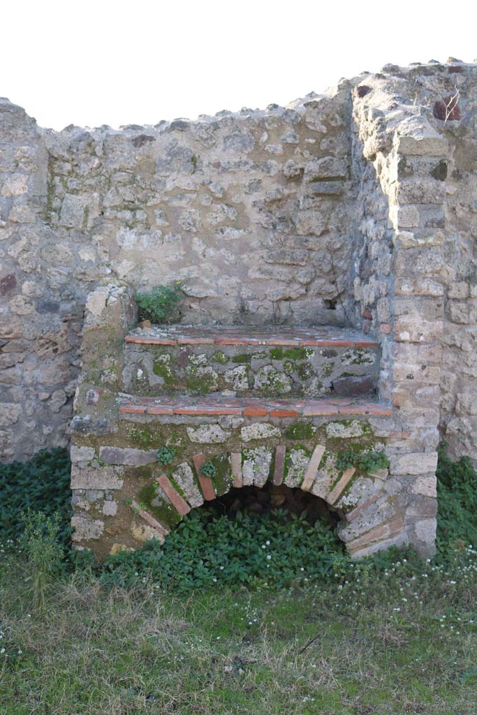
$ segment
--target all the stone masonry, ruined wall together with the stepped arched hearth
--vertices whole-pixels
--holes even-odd
[[[477,460],[476,162],[477,66],[456,60],[120,130],[41,129],[0,99],[1,459],[71,440],[77,543],[102,555],[164,537],[171,497],[277,463],[353,553],[431,553],[438,440]],[[137,328],[134,292],[176,280],[180,325]],[[224,400],[240,414],[203,411]],[[348,440],[388,474],[330,477]],[[169,521],[139,498],[156,485]]]

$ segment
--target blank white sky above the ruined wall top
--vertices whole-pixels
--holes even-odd
[[[287,104],[383,64],[477,57],[438,0],[3,0],[0,96],[43,127]]]

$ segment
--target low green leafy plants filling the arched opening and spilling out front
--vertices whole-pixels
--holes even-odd
[[[139,551],[109,556],[103,583],[124,586],[150,576],[162,588],[189,592],[204,586],[285,588],[334,578],[343,543],[325,521],[310,524],[285,510],[235,518],[197,509],[163,546],[149,541]]]

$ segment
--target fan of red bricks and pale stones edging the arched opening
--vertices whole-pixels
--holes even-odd
[[[325,451],[326,449],[324,445],[315,445],[313,453],[308,461],[308,465],[304,470],[303,478],[300,480],[299,483],[290,483],[290,481],[288,481],[287,483],[287,475],[285,470],[285,445],[278,445],[275,448],[275,460],[273,460],[273,474],[270,475],[269,469],[267,477],[265,479],[261,478],[257,481],[253,478],[250,479],[250,475],[244,475],[244,470],[242,468],[242,452],[228,453],[228,460],[231,471],[230,480],[226,485],[227,488],[221,490],[220,493],[218,493],[217,488],[214,487],[212,479],[202,474],[201,467],[205,463],[205,461],[207,461],[203,453],[198,453],[192,457],[193,470],[192,465],[190,465],[190,463],[182,463],[182,465],[180,465],[180,467],[182,468],[188,468],[188,470],[190,471],[190,475],[193,475],[193,471],[195,471],[195,476],[197,480],[195,480],[194,489],[192,489],[190,486],[187,487],[185,483],[182,483],[181,490],[183,495],[180,494],[176,486],[174,486],[174,484],[172,483],[172,480],[169,479],[169,477],[164,473],[159,475],[155,479],[155,481],[159,485],[159,488],[162,490],[164,495],[167,497],[169,503],[177,511],[180,518],[186,516],[193,508],[198,508],[204,503],[207,503],[207,501],[213,501],[216,498],[227,494],[232,488],[237,489],[242,488],[244,486],[255,486],[258,488],[263,488],[265,484],[269,483],[271,480],[274,485],[279,486],[283,484],[289,488],[300,488],[307,493],[315,495],[316,498],[323,499],[323,501],[325,501],[325,503],[333,511],[338,511],[340,516],[342,516],[340,524],[342,524],[343,528],[345,528],[346,526],[353,523],[355,518],[357,518],[362,511],[368,508],[368,506],[371,506],[375,501],[378,501],[380,496],[384,496],[384,493],[381,488],[376,488],[373,493],[363,494],[363,497],[358,500],[358,503],[355,503],[355,505],[353,505],[353,508],[343,508],[343,505],[340,502],[342,501],[343,493],[345,493],[346,488],[348,487],[348,485],[350,485],[351,480],[353,480],[353,477],[355,476],[356,469],[354,467],[345,469],[343,473],[338,475],[338,478],[330,480],[330,484],[326,488],[323,488],[320,493],[317,493],[315,485],[317,484],[317,475],[320,475],[320,473],[323,474],[323,472],[320,472],[319,467],[323,456],[325,455]],[[375,476],[383,475],[377,475],[373,473],[365,476],[374,478]],[[322,486],[324,487],[325,484],[323,484]],[[152,514],[147,511],[147,509],[142,508],[142,506],[137,503],[137,501],[133,500],[131,506],[137,516],[142,518],[142,520],[146,522],[147,525],[156,532],[154,536],[163,543],[165,537],[168,536],[168,534],[172,530],[172,527],[167,524],[161,523],[161,521],[159,521],[158,518],[156,518],[155,516],[152,516]],[[340,533],[340,529],[338,529],[338,533]],[[346,540],[343,538],[343,541]]]

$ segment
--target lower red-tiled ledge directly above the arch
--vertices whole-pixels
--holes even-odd
[[[364,400],[262,400],[260,398],[141,398],[121,405],[129,415],[250,415],[260,417],[317,417],[320,415],[392,415],[388,405]]]

